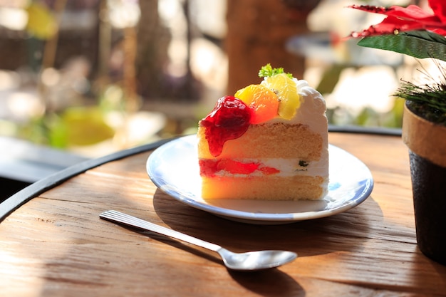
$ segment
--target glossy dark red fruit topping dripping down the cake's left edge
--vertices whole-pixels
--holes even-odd
[[[222,153],[224,142],[236,139],[248,130],[254,111],[234,96],[219,98],[217,104],[200,125],[205,128],[204,137],[211,155]]]

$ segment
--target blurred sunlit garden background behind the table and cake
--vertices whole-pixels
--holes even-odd
[[[343,41],[383,19],[351,4],[428,9],[409,0],[0,0],[0,163],[18,144],[78,162],[193,133],[218,98],[259,83],[266,63],[319,90],[331,125],[398,128],[403,104],[390,94],[420,64]]]

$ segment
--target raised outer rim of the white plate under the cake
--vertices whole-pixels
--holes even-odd
[[[299,222],[303,220],[308,219],[319,219],[323,217],[330,217],[334,214],[339,214],[341,212],[346,212],[349,209],[352,209],[353,207],[358,206],[362,202],[364,202],[368,197],[370,197],[370,194],[373,191],[374,187],[374,180],[373,175],[370,172],[370,169],[367,167],[367,165],[364,164],[361,160],[358,159],[358,157],[352,155],[350,152],[347,152],[346,150],[341,149],[340,147],[337,147],[336,145],[328,144],[329,149],[336,149],[341,150],[342,152],[350,155],[353,157],[353,159],[356,160],[356,162],[361,163],[363,167],[368,171],[368,174],[370,177],[368,179],[365,179],[365,184],[363,187],[361,187],[361,192],[358,192],[355,197],[352,199],[349,199],[345,204],[341,204],[338,207],[334,207],[332,209],[322,209],[320,211],[307,211],[307,212],[289,212],[289,213],[264,213],[264,212],[246,212],[242,210],[237,209],[227,209],[224,207],[218,207],[212,204],[203,203],[200,201],[197,201],[195,199],[192,199],[191,197],[186,197],[184,194],[180,194],[178,192],[172,191],[172,189],[166,188],[165,184],[162,184],[160,181],[157,180],[157,178],[154,177],[155,174],[152,172],[152,167],[150,167],[150,164],[152,164],[152,160],[157,157],[157,153],[161,152],[162,150],[165,150],[165,146],[172,145],[172,142],[180,142],[185,141],[187,138],[192,138],[196,135],[186,135],[182,137],[177,137],[174,140],[171,140],[170,142],[166,142],[165,144],[161,145],[160,147],[157,147],[149,157],[147,157],[146,162],[146,170],[147,174],[149,175],[151,181],[155,184],[155,186],[160,189],[162,192],[165,192],[165,194],[168,194],[170,197],[174,198],[178,202],[181,202],[183,204],[186,204],[190,207],[194,207],[195,209],[200,209],[204,212],[209,212],[210,214],[217,215],[218,217],[224,217],[226,219],[231,219],[235,221],[242,221],[242,222],[248,222],[248,223],[256,223],[259,222]]]

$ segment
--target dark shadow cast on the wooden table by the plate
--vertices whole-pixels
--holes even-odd
[[[367,207],[359,205],[332,217],[279,225],[233,222],[182,204],[159,189],[153,204],[160,219],[177,231],[234,251],[288,249],[300,257],[361,249],[370,239],[369,223],[383,219],[372,197],[363,202]]]

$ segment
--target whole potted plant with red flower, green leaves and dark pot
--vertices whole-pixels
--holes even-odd
[[[386,17],[350,37],[359,46],[432,58],[440,69],[428,83],[403,81],[395,96],[405,99],[403,142],[408,146],[418,247],[446,265],[446,1],[428,0],[432,11],[419,6],[350,6]]]

